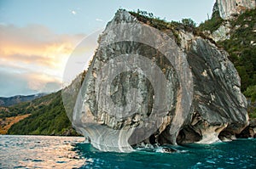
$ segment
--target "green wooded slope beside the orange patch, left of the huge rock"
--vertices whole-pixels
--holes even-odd
[[[64,110],[61,91],[35,99],[26,105],[28,106],[22,109],[32,115],[15,123],[9,128],[8,134],[77,135]]]

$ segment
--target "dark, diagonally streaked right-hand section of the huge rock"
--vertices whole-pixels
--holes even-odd
[[[206,144],[218,141],[222,132],[240,133],[248,122],[247,101],[227,53],[201,37],[194,37],[185,53],[193,72],[194,99],[191,121],[184,129],[194,130],[201,136],[199,143]],[[198,138],[184,138],[179,143],[197,142]]]

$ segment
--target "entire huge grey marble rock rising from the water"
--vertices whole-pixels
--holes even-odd
[[[228,54],[192,33],[178,36],[179,46],[172,31],[124,10],[108,23],[71,118],[96,148],[209,144],[247,127],[247,101]]]

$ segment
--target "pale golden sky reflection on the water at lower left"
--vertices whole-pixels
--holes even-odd
[[[77,168],[86,163],[74,146],[80,137],[0,136],[0,168]]]

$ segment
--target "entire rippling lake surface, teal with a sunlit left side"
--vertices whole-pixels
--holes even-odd
[[[81,137],[0,135],[0,168],[256,168],[256,139],[101,152]]]

